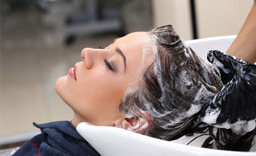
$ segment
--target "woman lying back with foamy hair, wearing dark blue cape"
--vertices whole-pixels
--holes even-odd
[[[73,120],[35,124],[42,134],[14,155],[98,155],[76,132],[74,127],[80,122],[166,140],[210,130],[215,148],[232,149],[219,146],[230,141],[213,133],[214,124],[222,122],[202,121],[205,108],[223,87],[222,70],[196,56],[171,25],[128,34],[104,49],[84,48],[81,58],[55,85],[73,109]],[[251,129],[247,132],[246,139],[255,135]],[[246,143],[250,146],[251,142]]]

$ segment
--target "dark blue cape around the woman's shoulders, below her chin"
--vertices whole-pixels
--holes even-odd
[[[35,124],[41,134],[23,144],[14,156],[26,155],[100,155],[82,138],[70,121]]]

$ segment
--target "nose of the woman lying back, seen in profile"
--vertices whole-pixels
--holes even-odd
[[[106,50],[94,49],[94,48],[84,48],[81,51],[82,62],[86,65],[87,69],[94,67],[97,62],[103,62],[103,59],[108,55]]]

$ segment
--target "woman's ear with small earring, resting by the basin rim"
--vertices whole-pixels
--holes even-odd
[[[132,131],[132,132],[141,132],[146,130],[151,125],[151,116],[148,113],[143,113],[145,117],[126,117],[122,121],[117,121],[114,123],[115,126],[121,125],[122,128]]]

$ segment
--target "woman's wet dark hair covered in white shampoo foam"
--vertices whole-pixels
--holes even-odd
[[[141,87],[127,93],[120,105],[121,109],[137,117],[146,118],[138,115],[143,114],[143,111],[150,114],[151,125],[143,132],[145,135],[174,140],[209,130],[215,140],[215,148],[232,149],[220,146],[225,142],[223,133],[233,135],[226,132],[228,130],[217,128],[214,134],[214,128],[209,125],[194,124],[202,105],[223,86],[218,69],[202,61],[186,46],[171,25],[155,28],[149,34],[154,42],[154,62],[143,73]],[[247,143],[251,145],[252,139]],[[212,147],[210,138],[204,147]]]

